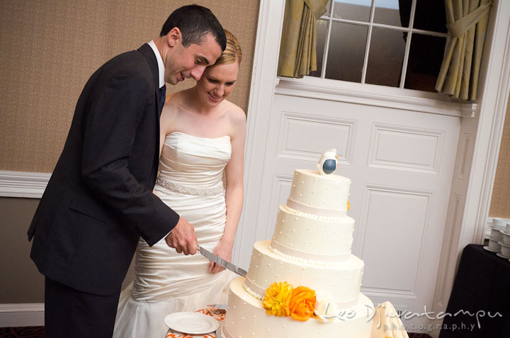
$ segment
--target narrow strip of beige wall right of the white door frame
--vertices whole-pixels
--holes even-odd
[[[510,99],[506,106],[503,137],[499,148],[489,216],[510,218]]]

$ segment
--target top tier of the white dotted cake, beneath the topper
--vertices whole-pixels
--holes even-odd
[[[344,217],[351,180],[319,171],[295,169],[287,206],[302,213],[326,217]]]

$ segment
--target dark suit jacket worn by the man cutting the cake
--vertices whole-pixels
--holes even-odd
[[[79,291],[120,290],[140,236],[179,220],[152,193],[159,157],[159,73],[147,44],[103,64],[79,97],[64,150],[28,230],[30,257]]]

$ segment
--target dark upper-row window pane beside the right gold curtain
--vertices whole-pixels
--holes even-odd
[[[444,0],[416,0],[414,28],[446,33]]]

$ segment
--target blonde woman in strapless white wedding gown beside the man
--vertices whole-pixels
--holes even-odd
[[[225,100],[242,60],[237,38],[225,35],[225,51],[196,86],[166,98],[154,193],[193,225],[200,246],[231,261],[243,203],[246,117]],[[140,239],[135,279],[120,295],[113,337],[163,338],[166,315],[226,304],[235,276],[200,254],[177,253],[164,239],[153,247]]]

